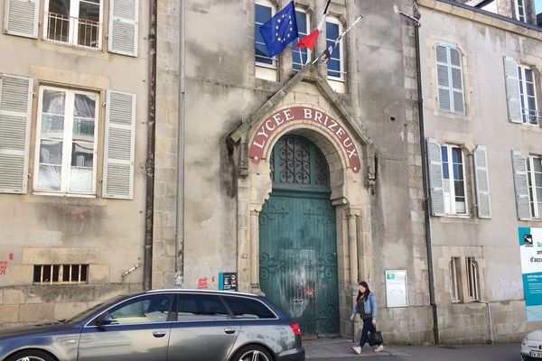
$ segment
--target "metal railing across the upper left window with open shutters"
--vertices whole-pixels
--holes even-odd
[[[99,49],[99,22],[47,12],[45,13],[45,17],[47,20],[47,32],[45,35],[47,39]]]

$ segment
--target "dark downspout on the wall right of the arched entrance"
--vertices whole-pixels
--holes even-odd
[[[413,0],[416,4],[416,0]],[[419,19],[421,15],[419,12],[415,13],[416,19]],[[424,127],[424,98],[422,96],[422,70],[420,59],[420,32],[419,27],[421,23],[416,22],[414,24],[414,37],[416,43],[416,78],[417,78],[417,97],[418,97],[418,119],[420,128],[420,151],[422,156],[422,177],[424,179],[424,208],[425,208],[425,248],[427,249],[427,273],[429,278],[429,302],[431,309],[433,310],[433,333],[435,338],[435,345],[440,344],[440,338],[438,334],[438,312],[435,301],[435,275],[433,274],[433,248],[431,245],[431,218],[429,217],[429,181],[426,149],[425,149],[425,127]]]

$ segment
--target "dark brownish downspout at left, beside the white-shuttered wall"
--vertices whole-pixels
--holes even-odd
[[[156,120],[156,14],[157,0],[150,1],[149,17],[149,82],[145,207],[145,255],[143,289],[150,290],[153,274],[153,215],[154,215],[154,134]]]

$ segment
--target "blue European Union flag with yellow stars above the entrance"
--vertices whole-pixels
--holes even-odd
[[[267,23],[260,26],[260,33],[266,42],[267,56],[278,54],[285,50],[286,45],[299,37],[297,22],[295,21],[294,2],[285,5],[285,8],[276,13]]]

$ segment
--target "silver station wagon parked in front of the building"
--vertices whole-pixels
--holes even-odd
[[[265,297],[156,290],[0,332],[2,361],[303,361],[301,329]]]

